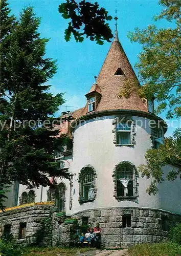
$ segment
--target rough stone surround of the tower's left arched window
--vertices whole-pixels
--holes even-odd
[[[93,199],[85,200],[85,199],[83,199],[83,197],[81,195],[81,190],[82,190],[81,181],[86,176],[88,169],[90,171],[92,171],[93,177],[94,177],[94,183],[93,183],[93,186],[94,186],[94,197],[93,197]],[[80,170],[79,179],[78,179],[78,182],[79,182],[79,203],[80,204],[87,203],[87,202],[94,202],[94,200],[96,199],[96,195],[97,195],[96,178],[97,178],[96,170],[95,170],[95,168],[92,165],[88,164],[88,165],[84,166]]]

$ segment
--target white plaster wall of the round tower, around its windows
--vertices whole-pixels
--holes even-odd
[[[72,171],[73,178],[73,208],[72,214],[80,210],[98,207],[116,207],[116,206],[135,206],[135,207],[151,207],[163,208],[165,210],[172,210],[178,212],[178,198],[173,198],[170,191],[167,189],[160,189],[160,193],[156,196],[149,196],[145,190],[150,184],[150,180],[146,178],[138,178],[139,182],[139,198],[138,203],[131,201],[118,202],[114,197],[114,182],[112,179],[112,172],[115,165],[121,161],[129,161],[136,167],[140,164],[145,164],[144,155],[150,148],[150,128],[148,119],[142,117],[133,117],[134,120],[142,120],[146,122],[146,127],[141,127],[138,122],[136,127],[136,144],[134,148],[127,146],[115,146],[114,133],[112,129],[112,119],[115,117],[107,117],[108,119],[90,121],[80,127],[74,132],[74,146],[73,146],[73,163]],[[96,186],[98,188],[97,197],[94,202],[84,203],[82,205],[78,202],[79,197],[79,183],[78,174],[85,165],[92,165],[96,169],[97,179]],[[174,193],[179,193],[179,188],[173,188]],[[167,202],[172,200],[170,207]],[[174,207],[175,205],[175,207]],[[171,208],[171,209],[170,209]]]

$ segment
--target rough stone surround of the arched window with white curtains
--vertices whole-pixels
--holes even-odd
[[[117,196],[117,168],[121,164],[129,164],[133,169],[133,196],[132,197],[130,197],[130,196],[128,196],[128,197]],[[115,166],[115,168],[113,170],[113,173],[112,173],[112,177],[113,177],[113,182],[114,182],[114,197],[116,198],[116,200],[118,200],[118,201],[132,201],[132,202],[138,203],[139,183],[137,182],[137,178],[139,177],[139,173],[138,173],[137,168],[135,167],[135,165],[133,165],[129,161],[121,161],[120,163],[118,163]]]

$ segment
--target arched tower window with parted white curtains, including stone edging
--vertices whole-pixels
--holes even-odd
[[[114,170],[115,198],[117,200],[132,200],[137,198],[137,172],[135,166],[124,161]]]

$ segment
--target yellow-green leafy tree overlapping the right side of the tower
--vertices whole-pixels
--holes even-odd
[[[149,25],[146,29],[135,29],[129,33],[132,42],[143,45],[143,51],[139,55],[139,62],[135,68],[139,71],[138,81],[127,80],[121,90],[120,97],[128,98],[132,92],[138,91],[142,98],[152,99],[158,103],[156,113],[167,110],[167,118],[181,116],[181,1],[161,0],[164,6],[160,15],[154,17],[155,21],[165,18],[172,23],[173,28],[158,29],[155,25]],[[181,178],[181,132],[175,131],[173,137],[165,138],[165,144],[159,150],[148,150],[146,153],[146,165],[141,165],[143,176],[153,178],[149,194],[156,194],[157,183]],[[162,167],[168,163],[173,169],[165,177]],[[178,169],[177,169],[178,168]]]

